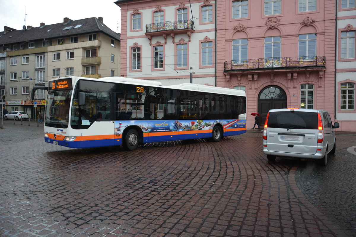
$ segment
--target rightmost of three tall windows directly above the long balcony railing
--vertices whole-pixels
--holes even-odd
[[[298,41],[300,60],[313,60],[316,56],[316,34],[300,34]]]

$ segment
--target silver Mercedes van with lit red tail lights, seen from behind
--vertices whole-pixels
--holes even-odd
[[[315,159],[328,162],[335,153],[334,128],[328,111],[321,109],[271,109],[263,128],[263,153],[269,161],[281,158]]]

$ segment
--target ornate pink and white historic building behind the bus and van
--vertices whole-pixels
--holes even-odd
[[[262,124],[269,109],[318,108],[341,122],[339,130],[356,131],[356,118],[342,123],[336,117],[335,104],[345,107],[341,97],[336,102],[336,87],[350,80],[346,96],[352,97],[353,85],[353,102],[346,110],[355,116],[355,75],[336,85],[334,0],[115,3],[121,7],[124,76],[174,85],[190,82],[193,72],[193,83],[245,90],[247,113],[260,113]],[[355,45],[355,34],[352,39]],[[348,57],[355,61],[355,53]],[[247,128],[253,123],[248,116]]]

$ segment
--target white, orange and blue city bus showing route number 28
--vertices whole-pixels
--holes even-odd
[[[73,148],[219,141],[246,132],[246,95],[126,77],[62,77],[49,81],[44,122],[46,142]]]

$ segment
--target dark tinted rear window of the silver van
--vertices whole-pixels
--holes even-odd
[[[268,128],[318,129],[318,113],[311,112],[270,112]]]

